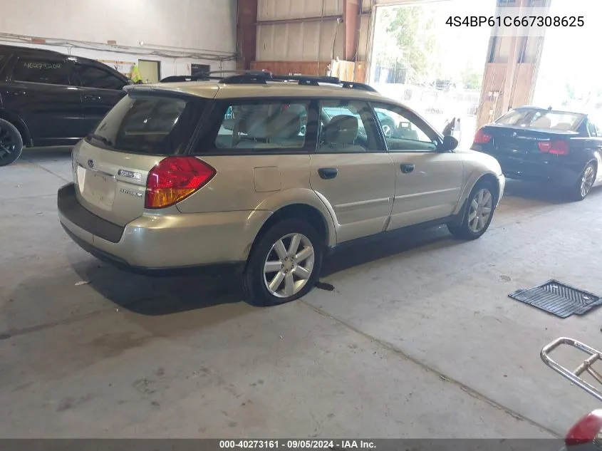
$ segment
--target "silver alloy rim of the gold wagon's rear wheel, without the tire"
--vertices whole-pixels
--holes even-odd
[[[264,263],[264,284],[270,294],[289,298],[306,286],[313,272],[315,252],[303,234],[287,234],[276,241]]]

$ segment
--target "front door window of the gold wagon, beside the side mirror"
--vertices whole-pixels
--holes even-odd
[[[416,124],[416,120],[390,108],[374,108],[374,111],[391,152],[437,150],[435,142],[425,133],[425,125],[422,125],[423,130]],[[427,131],[432,133],[432,130]]]

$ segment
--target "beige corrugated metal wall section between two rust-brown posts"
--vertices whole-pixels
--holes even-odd
[[[330,61],[343,58],[343,0],[259,0],[257,21],[314,19],[257,26],[257,61]],[[320,20],[322,16],[327,19]],[[330,19],[328,19],[330,17]],[[317,19],[316,19],[317,18]],[[321,32],[320,32],[321,30]]]

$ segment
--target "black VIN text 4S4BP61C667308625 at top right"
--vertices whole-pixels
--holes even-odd
[[[449,26],[566,26],[585,25],[583,16],[450,16]]]

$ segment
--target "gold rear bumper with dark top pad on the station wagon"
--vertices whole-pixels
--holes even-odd
[[[98,259],[136,272],[242,266],[271,212],[144,213],[125,227],[88,212],[73,183],[58,190],[58,217],[74,242]]]

